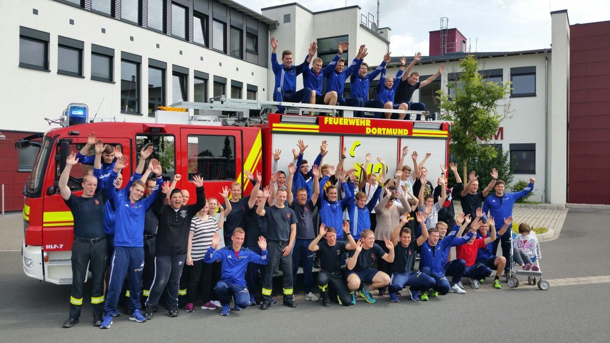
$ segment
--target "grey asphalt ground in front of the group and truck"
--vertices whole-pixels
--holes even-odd
[[[541,245],[544,278],[554,284],[557,279],[610,275],[609,222],[609,211],[570,210],[559,239]],[[386,297],[368,304],[359,298],[349,308],[323,308],[319,302],[298,300],[296,309],[250,307],[231,311],[229,317],[221,317],[220,310],[181,311],[178,318],[159,312],[146,323],[123,315],[109,330],[99,330],[92,326],[88,305],[81,323],[62,328],[70,286],[38,282],[21,268],[19,251],[0,252],[0,342],[610,341],[610,279],[605,278],[598,283],[573,279],[574,285],[548,291],[523,282],[517,289],[503,283],[496,290],[487,281],[476,291],[465,285],[465,295],[417,303],[404,296],[400,303]]]

